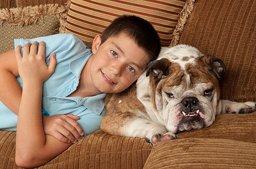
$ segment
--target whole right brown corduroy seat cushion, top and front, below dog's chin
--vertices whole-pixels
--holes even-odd
[[[212,126],[153,146],[144,168],[256,166],[256,112],[220,114]]]

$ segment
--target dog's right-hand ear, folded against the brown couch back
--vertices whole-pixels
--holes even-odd
[[[223,61],[215,56],[207,55],[206,64],[208,65],[208,70],[214,74],[220,81],[221,76],[226,72],[225,65]]]

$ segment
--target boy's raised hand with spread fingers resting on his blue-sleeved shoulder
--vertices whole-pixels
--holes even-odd
[[[15,49],[16,60],[18,64],[19,75],[24,82],[46,81],[54,72],[56,66],[55,55],[50,56],[50,63],[45,63],[45,43],[40,42],[37,52],[38,42],[27,43],[23,48],[23,57],[20,54],[22,46],[18,45]]]

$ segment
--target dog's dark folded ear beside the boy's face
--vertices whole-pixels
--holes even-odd
[[[169,75],[169,72],[168,72],[169,66],[170,66],[170,61],[166,58],[151,61],[150,63],[148,63],[146,76],[148,77],[148,75],[152,73],[153,77],[157,79],[166,78]]]

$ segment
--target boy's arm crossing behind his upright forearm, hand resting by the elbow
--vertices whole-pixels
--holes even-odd
[[[18,115],[20,99],[22,97],[22,88],[20,87],[16,77],[19,77],[15,50],[7,51],[0,54],[0,100],[12,112]],[[2,112],[3,113],[3,112]],[[44,115],[45,133],[56,137],[63,143],[75,143],[80,140],[82,128],[76,122],[78,116],[58,115],[53,117],[45,117]]]

